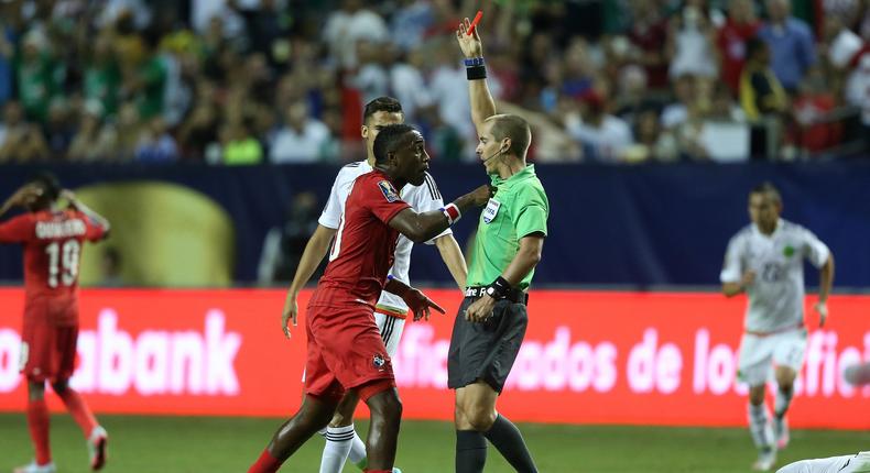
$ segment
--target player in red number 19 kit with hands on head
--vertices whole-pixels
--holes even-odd
[[[69,202],[57,207],[58,198]],[[45,382],[61,397],[87,439],[90,466],[106,463],[106,429],[97,424],[81,396],[69,387],[78,340],[78,263],[81,243],[109,233],[109,222],[62,190],[50,175],[40,175],[20,188],[2,207],[28,212],[0,223],[0,243],[24,246],[24,327],[21,371],[28,380],[28,427],[36,457],[15,473],[55,471],[48,446]]]

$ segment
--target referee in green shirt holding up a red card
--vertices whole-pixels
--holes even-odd
[[[525,164],[529,123],[496,114],[480,36],[476,30],[468,35],[469,26],[466,18],[456,37],[466,57],[477,154],[496,194],[480,216],[466,297],[450,338],[447,385],[456,389],[456,472],[483,471],[487,440],[518,472],[536,472],[520,430],[496,411],[496,400],[525,336],[526,290],[541,261],[550,204],[534,166]]]

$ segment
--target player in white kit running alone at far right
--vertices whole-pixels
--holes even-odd
[[[780,212],[782,198],[773,185],[752,189],[752,223],[728,243],[719,276],[726,296],[743,292],[749,296],[738,376],[749,385],[749,430],[759,449],[752,466],[760,471],[772,469],[776,449],[789,443],[785,413],[806,349],[804,258],[820,270],[814,306],[819,327],[828,315],[826,301],[834,280],[834,255],[825,243],[809,230],[780,219]],[[779,388],[771,424],[764,392],[772,371]]]

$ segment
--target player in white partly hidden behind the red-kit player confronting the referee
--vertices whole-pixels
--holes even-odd
[[[323,261],[333,238],[336,234],[340,234],[337,233],[337,230],[340,226],[345,201],[354,180],[372,169],[374,138],[378,136],[381,128],[402,122],[404,122],[402,106],[393,98],[380,97],[366,105],[362,114],[361,133],[366,140],[368,160],[348,164],[338,172],[329,194],[329,200],[320,215],[317,229],[305,246],[296,274],[293,277],[293,283],[290,286],[281,321],[287,337],[290,336],[287,322],[292,319],[293,326],[296,324],[296,315],[298,312],[296,298],[300,290],[307,284],[312,274]],[[444,207],[435,179],[428,174],[422,186],[413,186],[411,184],[404,186],[401,190],[401,197],[416,212],[437,210]],[[459,244],[453,237],[453,232],[447,229],[427,243],[435,244],[438,249],[457,286],[459,288],[465,287],[468,268]],[[395,246],[395,261],[390,270],[392,277],[405,284],[410,284],[407,273],[412,246],[413,242],[411,240],[403,235],[399,237]],[[338,248],[338,245],[334,245],[334,248]],[[399,339],[402,336],[406,314],[407,306],[401,297],[387,292],[381,293],[376,307],[374,319],[381,330],[387,352],[391,358],[395,354],[395,350],[399,346]],[[348,459],[360,469],[365,468],[366,444],[354,429],[354,410],[358,402],[359,399],[356,395],[350,392],[339,404],[336,415],[325,432],[326,447],[320,460],[320,473],[340,472]]]

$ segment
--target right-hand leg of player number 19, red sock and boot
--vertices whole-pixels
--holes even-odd
[[[78,341],[77,327],[63,327],[57,329],[57,352],[61,355],[61,365],[57,381],[52,383],[55,394],[64,402],[64,406],[73,416],[81,433],[85,436],[88,448],[88,461],[91,470],[100,470],[106,464],[106,447],[109,435],[90,411],[85,399],[78,392],[69,387],[69,377],[75,371],[76,345]]]

